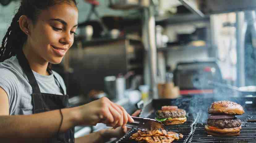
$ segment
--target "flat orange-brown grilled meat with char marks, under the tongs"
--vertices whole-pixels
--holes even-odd
[[[139,130],[130,137],[130,139],[138,141],[139,143],[172,143],[174,140],[179,140],[180,138],[183,138],[182,134],[167,132],[164,129],[153,131]]]

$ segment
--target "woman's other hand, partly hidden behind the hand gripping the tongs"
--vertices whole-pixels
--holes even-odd
[[[141,110],[135,111],[131,116],[138,116]],[[102,130],[102,137],[106,138],[121,138],[127,133],[127,128],[126,127],[118,127],[116,129],[106,129]]]

